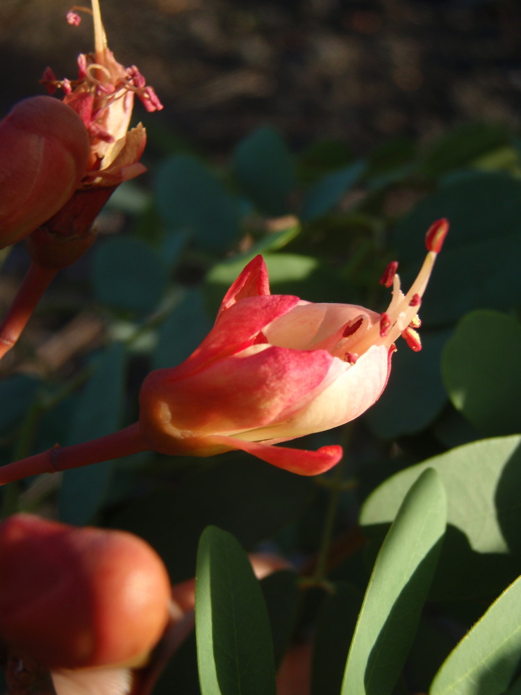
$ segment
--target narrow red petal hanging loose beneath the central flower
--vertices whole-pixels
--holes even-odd
[[[215,443],[246,451],[272,466],[298,475],[319,475],[329,471],[329,468],[333,468],[342,458],[342,447],[337,445],[322,446],[316,451],[308,451],[263,444],[258,441],[242,441],[231,436],[216,435],[210,439],[213,439]]]

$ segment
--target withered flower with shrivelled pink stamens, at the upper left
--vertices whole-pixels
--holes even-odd
[[[94,52],[78,56],[78,78],[57,80],[47,68],[42,82],[51,94],[57,88],[65,92],[63,101],[80,115],[88,130],[90,158],[82,186],[111,187],[144,171],[139,159],[146,143],[145,130],[138,124],[129,131],[134,96],[147,111],[158,111],[163,105],[138,67],[124,67],[108,49],[99,0],[92,0],[92,18]],[[67,21],[79,24],[80,17],[71,10]]]

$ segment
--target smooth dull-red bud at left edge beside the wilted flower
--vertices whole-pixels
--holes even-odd
[[[78,187],[88,133],[72,108],[52,97],[16,104],[0,122],[0,248],[49,220]]]

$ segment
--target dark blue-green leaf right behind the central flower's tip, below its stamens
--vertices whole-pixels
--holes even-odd
[[[438,417],[447,402],[440,375],[440,357],[448,331],[422,332],[422,350],[398,341],[389,383],[365,416],[378,436],[390,439],[421,432]]]

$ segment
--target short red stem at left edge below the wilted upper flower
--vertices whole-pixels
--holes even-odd
[[[15,301],[0,325],[0,359],[16,344],[56,272],[58,268],[47,268],[31,261]]]

